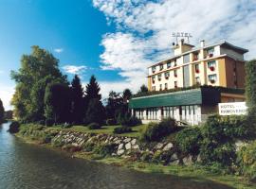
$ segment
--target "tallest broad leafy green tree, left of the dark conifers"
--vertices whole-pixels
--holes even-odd
[[[39,46],[32,46],[31,54],[22,56],[21,68],[11,71],[11,78],[16,82],[11,103],[18,119],[31,122],[44,118],[46,85],[54,80],[67,83],[58,66],[59,60]]]

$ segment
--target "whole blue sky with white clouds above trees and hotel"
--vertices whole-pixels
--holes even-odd
[[[69,80],[95,75],[101,94],[147,83],[147,67],[172,57],[173,32],[195,46],[226,40],[256,58],[255,0],[0,0],[0,98],[6,110],[32,45],[60,60]]]

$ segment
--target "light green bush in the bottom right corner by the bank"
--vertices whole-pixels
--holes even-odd
[[[239,150],[237,163],[240,174],[256,180],[256,141]]]

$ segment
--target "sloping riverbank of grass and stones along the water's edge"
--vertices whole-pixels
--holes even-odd
[[[147,163],[147,156],[151,154],[151,150],[155,146],[158,147],[158,150],[162,151],[164,151],[164,148],[168,149],[169,147],[166,151],[170,151],[172,146],[168,142],[162,144],[162,146],[159,144],[145,146],[145,144],[140,144],[136,138],[132,137],[71,132],[70,129],[31,128],[28,126],[22,126],[16,136],[22,138],[27,143],[65,150],[73,158],[123,166],[147,173],[168,174],[199,182],[218,182],[230,188],[256,187],[254,183],[242,177],[227,175],[219,170],[214,172],[212,169],[209,170],[207,167],[197,165],[196,163],[181,165],[178,162],[179,160],[170,161],[168,165],[163,165],[162,162]],[[96,145],[93,146],[92,144]],[[148,150],[146,149],[147,147]],[[139,159],[136,157],[137,149],[143,151]]]

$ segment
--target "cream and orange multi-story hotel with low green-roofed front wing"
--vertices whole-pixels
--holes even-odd
[[[143,122],[174,117],[198,124],[220,102],[245,101],[247,51],[225,41],[194,47],[181,40],[173,57],[148,68],[151,95],[134,97],[130,109]]]

